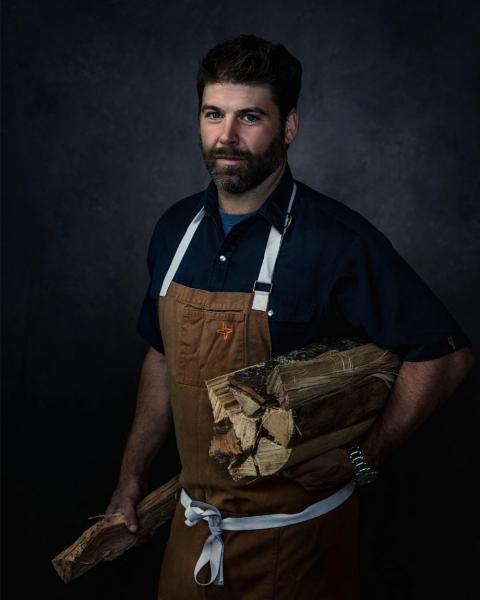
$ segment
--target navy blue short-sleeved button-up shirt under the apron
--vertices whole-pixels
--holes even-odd
[[[292,221],[277,259],[269,300],[276,356],[330,335],[360,335],[404,360],[420,361],[471,346],[458,323],[389,240],[356,211],[296,181]],[[139,333],[164,353],[158,295],[186,228],[202,219],[174,277],[208,291],[251,292],[270,227],[280,231],[293,187],[287,165],[258,211],[225,235],[213,181],[159,219],[150,242],[150,284]]]

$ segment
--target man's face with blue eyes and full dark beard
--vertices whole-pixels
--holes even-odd
[[[267,86],[205,86],[200,109],[205,165],[216,186],[231,194],[255,188],[285,160],[287,146]]]

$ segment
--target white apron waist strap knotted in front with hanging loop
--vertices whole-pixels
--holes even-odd
[[[193,577],[199,585],[223,585],[223,539],[222,530],[248,531],[253,529],[271,529],[273,527],[285,527],[302,523],[315,517],[320,517],[343,504],[354,492],[355,481],[350,481],[337,492],[307,506],[305,510],[294,514],[272,514],[258,515],[252,517],[226,517],[222,515],[216,506],[192,500],[187,492],[182,489],[180,502],[185,508],[185,524],[193,527],[199,521],[207,521],[210,535],[205,540],[202,553],[195,565]],[[210,563],[210,581],[201,583],[197,579],[199,571]]]

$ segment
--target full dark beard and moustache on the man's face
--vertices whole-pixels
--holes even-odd
[[[200,141],[201,144],[201,141]],[[277,135],[262,154],[252,154],[234,148],[206,150],[201,144],[203,160],[218,189],[229,194],[243,194],[256,188],[285,160],[287,147],[281,135]],[[243,158],[238,165],[218,165],[222,156]]]

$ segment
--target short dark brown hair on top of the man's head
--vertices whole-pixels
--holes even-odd
[[[302,65],[282,44],[254,35],[239,35],[209,50],[197,73],[198,110],[208,83],[268,85],[285,124],[297,106],[302,85]]]

